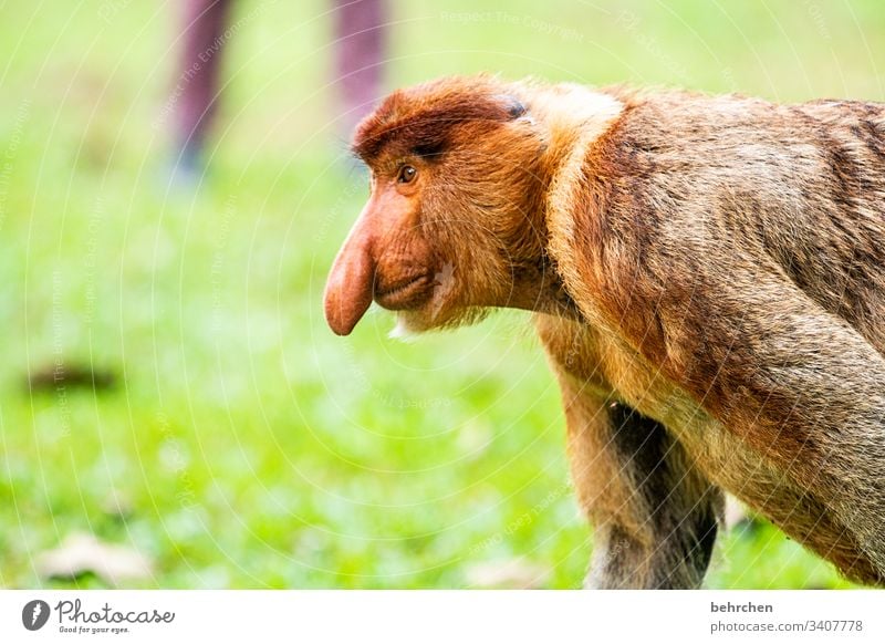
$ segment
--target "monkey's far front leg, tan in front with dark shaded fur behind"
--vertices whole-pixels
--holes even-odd
[[[698,588],[722,496],[656,423],[560,374],[572,477],[595,523],[587,586]]]

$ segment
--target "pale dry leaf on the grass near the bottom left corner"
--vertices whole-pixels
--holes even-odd
[[[92,572],[110,585],[146,581],[154,574],[140,552],[84,533],[71,534],[55,550],[38,555],[37,571],[45,579],[76,579]]]

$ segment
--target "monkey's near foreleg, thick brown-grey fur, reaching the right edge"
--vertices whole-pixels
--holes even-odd
[[[772,487],[760,509],[850,578],[885,584],[885,357],[777,273],[711,266],[655,303],[664,371],[801,492]]]

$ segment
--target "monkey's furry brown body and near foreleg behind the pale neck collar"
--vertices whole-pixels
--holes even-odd
[[[885,108],[612,95],[548,215],[605,380],[711,480],[882,583]]]

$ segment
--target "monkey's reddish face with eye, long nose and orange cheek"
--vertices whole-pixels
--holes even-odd
[[[486,248],[493,233],[456,215],[451,196],[433,188],[440,172],[420,158],[373,169],[369,199],[326,285],[335,333],[348,334],[373,300],[412,332],[475,319],[477,307],[491,301],[488,273],[504,263],[494,259],[500,249]]]

